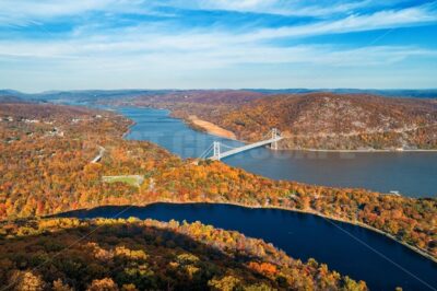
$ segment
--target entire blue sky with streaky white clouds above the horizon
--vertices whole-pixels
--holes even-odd
[[[1,0],[0,88],[437,88],[437,1]]]

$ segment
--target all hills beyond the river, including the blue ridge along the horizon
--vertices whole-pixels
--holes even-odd
[[[283,149],[437,149],[437,90],[84,90],[38,94],[0,91],[0,100],[15,97],[163,107],[188,123],[196,116],[247,141],[258,140],[276,127],[287,137],[281,142]]]

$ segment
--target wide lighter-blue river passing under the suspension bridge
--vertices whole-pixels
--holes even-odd
[[[151,140],[182,158],[200,156],[213,141],[240,142],[190,129],[167,110],[122,108],[137,121],[128,139]],[[339,187],[362,187],[412,197],[437,195],[437,152],[334,153],[253,149],[223,160],[246,171],[275,179]]]

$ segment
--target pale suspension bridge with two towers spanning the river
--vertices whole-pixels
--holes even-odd
[[[227,158],[229,155],[234,155],[240,152],[245,152],[251,149],[260,148],[270,144],[270,148],[272,150],[277,150],[277,142],[283,139],[281,137],[280,131],[276,128],[273,128],[272,130],[269,131],[268,135],[264,136],[264,140],[260,140],[253,143],[245,144],[241,147],[229,147],[227,144],[224,144],[223,142],[220,141],[214,141],[210,148],[208,148],[200,156],[199,159],[206,159],[206,160],[213,160],[213,161],[220,161],[224,158]],[[223,149],[225,151],[223,151]],[[212,153],[212,155],[210,155]]]

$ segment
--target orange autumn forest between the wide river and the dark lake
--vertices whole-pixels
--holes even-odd
[[[231,202],[281,207],[368,225],[437,255],[437,200],[275,182],[220,162],[182,161],[126,141],[131,121],[110,112],[0,105],[0,219],[105,205]],[[91,161],[105,149],[102,160]],[[140,186],[104,176],[138,175]]]

